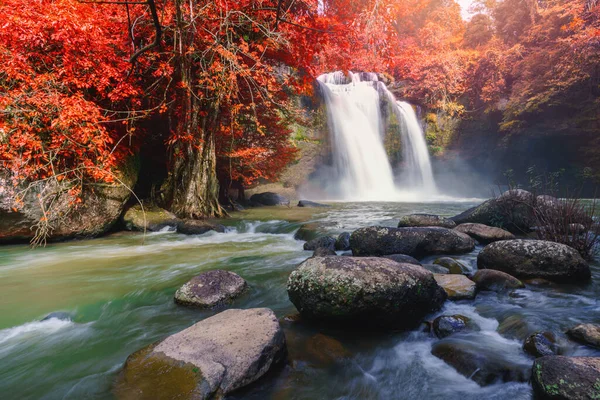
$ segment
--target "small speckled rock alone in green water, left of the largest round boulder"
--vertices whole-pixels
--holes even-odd
[[[210,308],[231,301],[246,290],[246,281],[233,272],[214,270],[193,277],[175,292],[175,302]]]

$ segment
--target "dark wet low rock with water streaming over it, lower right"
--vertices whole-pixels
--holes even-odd
[[[529,378],[524,366],[515,365],[502,355],[488,353],[486,349],[471,347],[471,343],[464,341],[441,341],[431,349],[431,354],[481,386],[497,382],[526,382]]]

